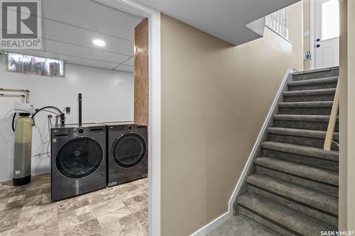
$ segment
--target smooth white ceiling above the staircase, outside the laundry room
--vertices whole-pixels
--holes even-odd
[[[241,45],[262,35],[246,27],[300,0],[136,0],[190,26]]]

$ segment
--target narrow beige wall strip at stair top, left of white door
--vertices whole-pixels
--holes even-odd
[[[303,16],[302,1],[288,6],[289,40],[293,43],[293,69],[303,71]]]

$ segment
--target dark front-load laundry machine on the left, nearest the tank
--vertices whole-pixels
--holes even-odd
[[[60,125],[52,128],[51,147],[52,201],[106,187],[104,125]]]

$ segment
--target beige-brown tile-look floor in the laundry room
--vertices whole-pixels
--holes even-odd
[[[50,176],[0,183],[0,235],[148,235],[148,179],[50,202]]]

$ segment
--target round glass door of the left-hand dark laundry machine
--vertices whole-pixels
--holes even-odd
[[[99,142],[90,137],[77,137],[60,147],[55,157],[55,166],[63,176],[80,179],[94,173],[102,159],[104,151]]]

